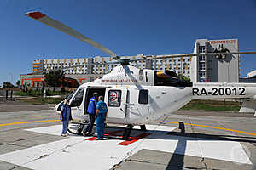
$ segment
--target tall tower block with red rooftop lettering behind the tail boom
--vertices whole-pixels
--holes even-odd
[[[237,39],[207,40],[195,42],[193,54],[205,53],[200,57],[192,57],[192,82],[239,82],[240,65],[238,54],[213,56],[213,52],[238,52]]]

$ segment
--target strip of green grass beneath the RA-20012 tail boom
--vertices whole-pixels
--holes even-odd
[[[239,111],[241,102],[218,100],[192,100],[182,111]]]

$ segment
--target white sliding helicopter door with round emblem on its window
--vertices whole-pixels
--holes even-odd
[[[108,105],[109,118],[125,118],[127,91],[126,88],[108,88],[106,90],[105,101]]]

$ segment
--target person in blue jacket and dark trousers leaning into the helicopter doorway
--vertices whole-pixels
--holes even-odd
[[[93,93],[93,97],[90,98],[89,105],[87,107],[87,113],[90,118],[90,123],[87,125],[87,127],[84,128],[83,130],[83,135],[84,136],[92,136],[92,128],[95,122],[95,114],[96,114],[96,105],[97,105],[97,98],[98,98],[98,93]]]

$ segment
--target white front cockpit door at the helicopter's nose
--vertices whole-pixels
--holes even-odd
[[[84,119],[84,88],[79,88],[70,103],[73,118]]]

